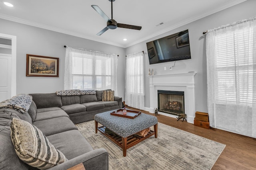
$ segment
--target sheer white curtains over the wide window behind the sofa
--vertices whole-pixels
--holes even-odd
[[[67,47],[65,58],[64,89],[114,90],[117,55]]]

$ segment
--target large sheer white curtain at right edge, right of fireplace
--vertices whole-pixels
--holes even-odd
[[[210,126],[256,137],[256,18],[208,30]]]

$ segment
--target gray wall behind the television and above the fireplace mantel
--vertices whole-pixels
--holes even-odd
[[[150,107],[148,68],[153,68],[155,74],[172,74],[182,72],[197,72],[195,75],[195,109],[196,111],[208,112],[207,110],[207,77],[206,77],[206,35],[202,32],[214,29],[221,25],[227,25],[235,21],[249,19],[256,16],[256,0],[248,0],[236,6],[222,10],[200,20],[191,22],[182,27],[168,31],[162,35],[148,39],[126,48],[126,55],[137,51],[144,51],[144,74],[145,74],[145,107]],[[188,29],[190,39],[191,59],[176,61],[175,67],[169,70],[174,62],[149,64],[146,43],[155,39],[166,37]],[[164,67],[166,66],[166,70]]]

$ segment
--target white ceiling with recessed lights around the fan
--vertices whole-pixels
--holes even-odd
[[[106,21],[91,5],[98,5],[111,18],[109,0],[1,0],[0,18],[126,48],[244,1],[116,0],[113,19],[142,29],[109,29],[100,36],[96,34]]]

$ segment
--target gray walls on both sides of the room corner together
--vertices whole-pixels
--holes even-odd
[[[63,46],[68,45],[70,47],[118,54],[118,96],[124,100],[125,55],[144,51],[145,107],[150,107],[148,68],[154,68],[155,74],[195,71],[197,72],[195,76],[196,111],[207,112],[206,35],[202,35],[202,32],[256,16],[255,6],[255,0],[248,0],[126,49],[2,19],[0,19],[0,33],[17,36],[17,94],[51,93],[64,89],[65,48]],[[172,70],[168,68],[174,62],[149,65],[147,42],[186,29],[189,31],[192,59],[177,61]],[[59,78],[26,77],[26,54],[59,57]],[[167,70],[164,70],[164,66],[166,66]]]

